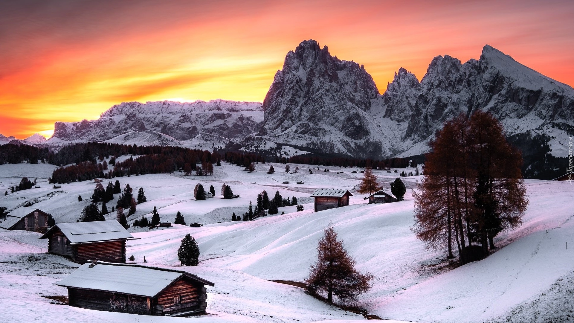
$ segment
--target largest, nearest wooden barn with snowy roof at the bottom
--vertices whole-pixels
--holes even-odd
[[[205,285],[189,272],[134,264],[92,262],[57,283],[68,287],[68,305],[107,312],[158,316],[205,313]]]

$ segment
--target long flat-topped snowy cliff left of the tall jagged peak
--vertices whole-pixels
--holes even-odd
[[[48,143],[104,141],[129,132],[151,130],[175,140],[211,134],[239,139],[257,132],[263,121],[259,102],[125,102],[111,107],[98,120],[56,122]]]

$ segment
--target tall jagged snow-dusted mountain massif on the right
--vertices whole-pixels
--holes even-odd
[[[285,58],[263,101],[260,135],[354,156],[416,155],[444,121],[490,111],[509,134],[567,138],[574,89],[486,45],[479,60],[437,56],[419,82],[405,68],[380,95],[363,66],[303,41]]]

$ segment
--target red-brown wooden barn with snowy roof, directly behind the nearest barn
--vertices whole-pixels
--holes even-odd
[[[59,223],[44,233],[48,252],[80,264],[93,259],[126,263],[126,240],[133,236],[118,221]]]

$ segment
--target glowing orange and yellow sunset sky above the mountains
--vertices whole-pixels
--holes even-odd
[[[573,1],[45,1],[0,3],[0,133],[51,136],[126,101],[262,101],[305,39],[364,64],[478,59],[484,44],[574,84]]]

